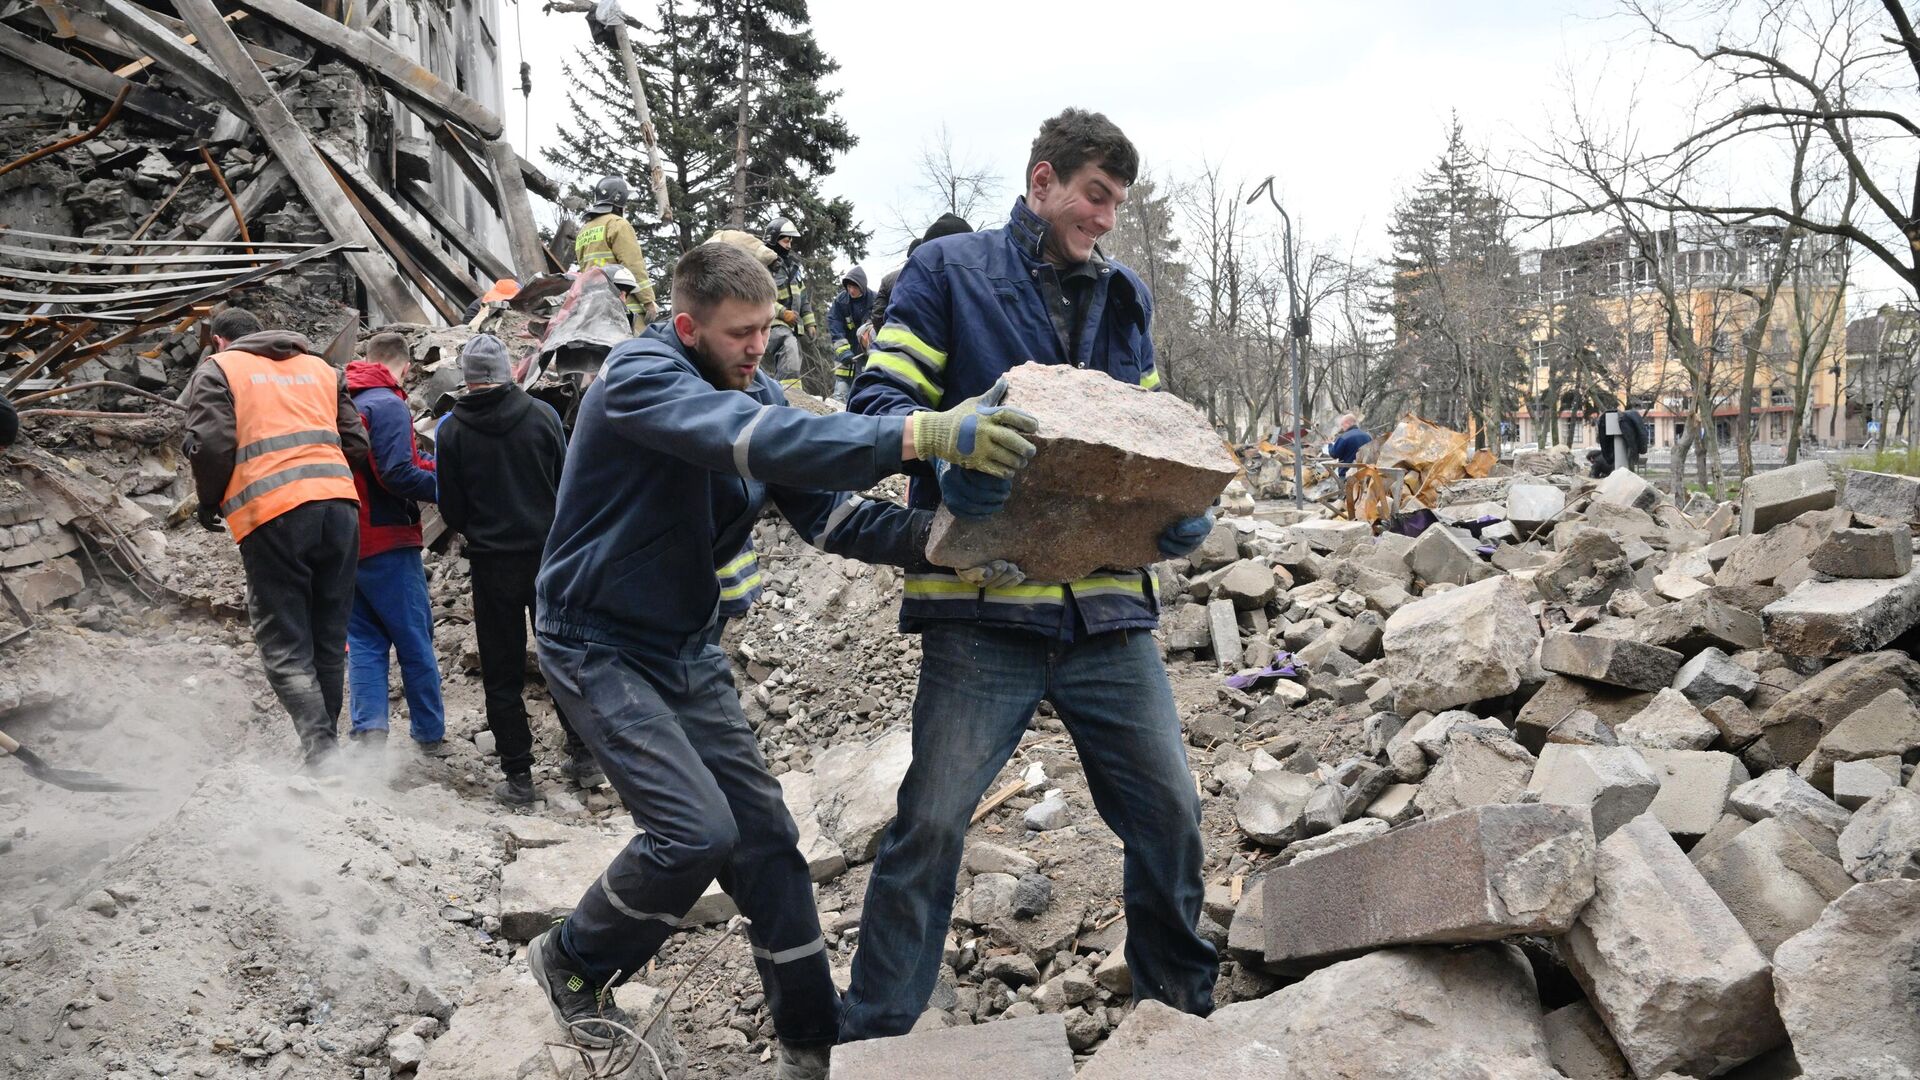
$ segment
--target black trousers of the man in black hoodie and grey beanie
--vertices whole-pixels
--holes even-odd
[[[480,644],[480,680],[486,684],[486,726],[493,730],[499,767],[509,776],[534,767],[534,730],[526,723],[526,626],[534,613],[534,578],[540,552],[467,555],[474,580],[474,638]],[[566,732],[566,753],[588,757],[588,748],[566,721],[559,698],[553,709]]]

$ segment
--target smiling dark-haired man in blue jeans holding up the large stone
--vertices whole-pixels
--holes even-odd
[[[1158,386],[1146,286],[1094,246],[1137,169],[1139,152],[1104,115],[1068,110],[1046,121],[1012,219],[933,240],[908,259],[851,409],[910,417],[981,394],[1029,359]],[[1010,492],[1006,479],[935,463],[914,473],[908,502],[985,515]],[[1185,555],[1210,528],[1208,517],[1173,523],[1162,552]],[[914,763],[868,882],[843,1042],[904,1034],[925,1009],[968,815],[1043,698],[1066,721],[1094,805],[1127,846],[1135,995],[1196,1015],[1213,1009],[1217,959],[1194,930],[1204,896],[1200,799],[1156,623],[1144,571],[1014,588],[945,571],[908,575],[900,625],[922,634],[924,653]]]

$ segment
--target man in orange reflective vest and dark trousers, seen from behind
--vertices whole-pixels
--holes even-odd
[[[225,519],[240,546],[267,684],[307,769],[324,769],[340,746],[367,429],[307,338],[265,331],[244,307],[209,329],[217,352],[180,398],[200,525],[219,532]]]

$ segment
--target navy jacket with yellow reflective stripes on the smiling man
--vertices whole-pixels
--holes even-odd
[[[1152,300],[1131,269],[1096,259],[1079,334],[1069,352],[1048,311],[1043,288],[1054,275],[1041,256],[1046,223],[1016,204],[1006,229],[943,236],[922,244],[893,286],[887,323],[874,336],[866,371],[854,382],[849,409],[910,413],[972,398],[1006,369],[1023,363],[1071,363],[1106,371],[1121,382],[1160,386],[1148,336]],[[1096,492],[1091,492],[1096,494]],[[939,505],[931,469],[914,473],[910,505]],[[1146,571],[1096,573],[1068,584],[977,588],[952,571],[906,577],[900,625],[918,630],[929,621],[981,621],[1071,640],[1106,630],[1152,628],[1160,605]]]

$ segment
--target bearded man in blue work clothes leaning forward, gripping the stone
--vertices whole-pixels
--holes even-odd
[[[753,920],[780,1080],[824,1080],[839,994],[799,830],[712,644],[714,557],[772,498],[826,552],[924,567],[931,515],[826,492],[927,457],[1012,477],[1033,421],[979,398],[904,419],[785,407],[760,371],[774,279],[732,244],[682,256],[672,296],[674,317],[616,346],[582,398],[538,580],[547,686],[641,832],[528,963],[555,1019],[607,1045],[605,1020],[632,1026],[611,988],[718,878]]]

